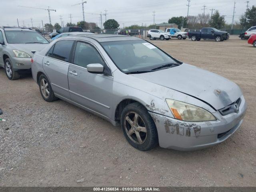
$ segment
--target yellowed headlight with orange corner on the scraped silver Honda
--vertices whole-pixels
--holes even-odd
[[[183,121],[213,121],[216,118],[208,111],[188,103],[166,99],[174,118]]]

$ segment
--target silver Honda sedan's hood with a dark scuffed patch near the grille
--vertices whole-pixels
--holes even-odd
[[[184,63],[173,68],[132,76],[198,98],[216,110],[235,102],[242,95],[239,86],[234,82]]]

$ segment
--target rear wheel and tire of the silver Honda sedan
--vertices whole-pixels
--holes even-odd
[[[55,101],[58,99],[54,95],[50,81],[44,74],[40,75],[39,80],[38,80],[38,85],[40,88],[41,96],[45,101],[52,102],[52,101]]]

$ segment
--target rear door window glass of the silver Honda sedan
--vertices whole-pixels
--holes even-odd
[[[73,44],[73,40],[62,40],[56,42],[52,52],[52,58],[69,62],[70,52]]]

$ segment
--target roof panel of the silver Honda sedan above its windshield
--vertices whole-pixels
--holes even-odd
[[[132,37],[132,36],[126,36],[126,35],[111,35],[111,34],[79,34],[79,35],[72,35],[72,38],[76,38],[76,39],[83,39],[83,37],[92,38],[92,39],[94,39],[98,42],[141,40],[140,38]]]

